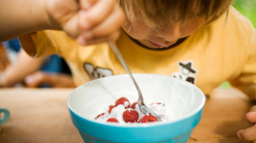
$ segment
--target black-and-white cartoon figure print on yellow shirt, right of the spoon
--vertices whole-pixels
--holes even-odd
[[[175,78],[180,78],[184,81],[196,84],[196,74],[197,69],[193,67],[194,61],[179,61],[178,66],[180,67],[180,72],[175,72],[172,74]]]

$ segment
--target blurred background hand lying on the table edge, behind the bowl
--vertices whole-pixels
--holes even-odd
[[[71,76],[67,74],[52,74],[46,72],[35,72],[25,77],[27,87],[39,87],[42,84],[51,87],[76,87]]]

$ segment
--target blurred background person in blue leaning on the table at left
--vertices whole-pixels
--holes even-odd
[[[75,87],[66,62],[57,55],[32,58],[18,39],[0,48],[0,87]]]

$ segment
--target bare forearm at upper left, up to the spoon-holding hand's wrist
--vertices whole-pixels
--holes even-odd
[[[45,4],[45,0],[0,0],[0,41],[43,29],[57,29],[48,20]]]

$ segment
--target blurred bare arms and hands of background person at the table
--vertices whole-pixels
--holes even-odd
[[[0,74],[0,87],[11,87],[23,80],[28,87],[38,87],[42,83],[51,87],[76,87],[72,76],[68,74],[38,71],[44,61],[45,58],[32,58],[20,49],[16,62]]]

